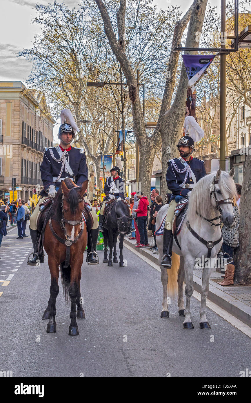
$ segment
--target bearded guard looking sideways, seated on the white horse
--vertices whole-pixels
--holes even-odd
[[[176,147],[178,147],[180,157],[168,160],[166,172],[166,183],[168,189],[172,191],[163,233],[164,256],[161,264],[166,268],[171,268],[172,265],[173,235],[171,224],[176,205],[181,199],[188,199],[195,183],[206,175],[204,162],[192,156],[195,151],[192,137],[188,135],[181,137]]]

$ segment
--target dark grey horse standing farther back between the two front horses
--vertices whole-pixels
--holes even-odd
[[[112,208],[104,219],[104,260],[107,266],[112,266],[112,249],[113,249],[113,262],[118,263],[116,243],[119,235],[119,266],[124,266],[123,261],[123,242],[124,235],[127,233],[131,225],[132,216],[129,214],[129,206],[127,206],[121,199],[112,202]],[[107,244],[110,248],[109,259],[107,259]]]

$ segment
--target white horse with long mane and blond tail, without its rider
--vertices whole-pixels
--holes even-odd
[[[201,178],[193,187],[189,195],[189,204],[183,226],[177,235],[181,249],[174,239],[172,246],[172,252],[174,253],[172,253],[172,267],[170,269],[160,264],[163,256],[163,235],[156,235],[163,285],[163,308],[160,317],[168,318],[167,291],[170,296],[173,296],[178,286],[178,313],[180,316],[185,316],[183,322],[185,329],[193,329],[190,317],[190,299],[193,295],[195,259],[196,262],[201,262],[201,267],[203,267],[201,307],[199,311],[201,318],[200,327],[201,329],[210,329],[205,315],[209,279],[217,259],[217,253],[220,251],[222,245],[222,231],[219,225],[220,217],[225,225],[231,225],[234,221],[233,198],[236,197],[236,187],[232,179],[233,176],[234,168],[229,173],[219,169],[216,173],[213,172]],[[166,204],[157,214],[157,233],[158,229],[163,227],[167,210],[168,205]],[[188,228],[189,224],[190,229]],[[187,299],[185,309],[183,300],[184,277]]]

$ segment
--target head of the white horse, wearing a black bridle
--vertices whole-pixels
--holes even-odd
[[[231,225],[234,222],[233,204],[236,197],[236,187],[233,181],[234,167],[226,173],[218,169],[214,177],[214,189],[211,192],[212,204],[222,214],[224,225]]]

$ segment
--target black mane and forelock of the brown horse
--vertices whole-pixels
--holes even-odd
[[[70,205],[70,210],[72,214],[75,214],[79,205],[79,193],[78,191],[81,187],[75,187],[74,183],[72,183],[71,179],[66,178],[64,179],[64,183],[71,189],[69,191],[69,195],[67,197],[67,201]],[[56,196],[54,197],[54,204],[53,204],[53,218],[54,220],[61,222],[62,220],[62,186],[58,189]]]

